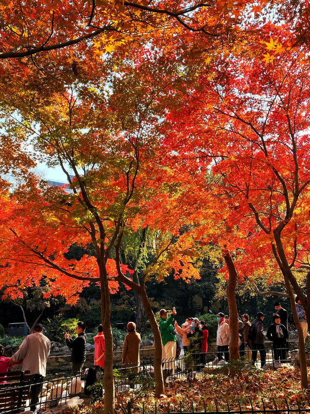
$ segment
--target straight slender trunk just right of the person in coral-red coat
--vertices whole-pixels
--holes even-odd
[[[111,305],[108,278],[104,264],[100,263],[100,296],[101,296],[101,320],[105,335],[105,372],[104,372],[104,414],[114,412],[115,390],[113,377],[113,336],[110,324]]]

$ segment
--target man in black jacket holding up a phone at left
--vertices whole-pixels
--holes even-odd
[[[86,361],[85,323],[78,322],[76,331],[78,334],[76,339],[70,338],[70,335],[67,332],[64,335],[67,346],[71,348],[72,375],[80,374],[84,362]]]

